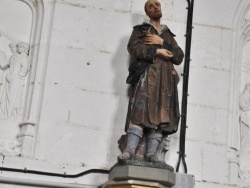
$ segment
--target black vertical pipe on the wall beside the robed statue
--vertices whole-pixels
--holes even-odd
[[[183,69],[183,88],[182,88],[182,107],[181,107],[181,130],[180,130],[180,143],[179,143],[179,158],[176,166],[176,172],[179,172],[179,167],[182,161],[184,172],[187,173],[187,164],[185,161],[185,142],[186,142],[186,128],[187,128],[187,97],[188,97],[188,79],[190,67],[190,52],[192,42],[192,29],[193,29],[193,7],[194,0],[187,0],[188,13],[187,13],[187,26],[186,26],[186,47],[185,47],[185,62]]]

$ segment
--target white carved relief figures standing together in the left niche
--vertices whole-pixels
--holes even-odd
[[[29,45],[25,42],[9,45],[12,55],[6,69],[0,107],[5,118],[18,121],[21,117],[25,77],[30,70]]]

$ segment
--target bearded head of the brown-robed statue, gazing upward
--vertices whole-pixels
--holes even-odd
[[[146,14],[153,20],[159,20],[162,17],[161,3],[157,0],[148,0],[146,3]]]

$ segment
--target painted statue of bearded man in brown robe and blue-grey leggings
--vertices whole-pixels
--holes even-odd
[[[181,64],[184,54],[174,34],[161,24],[161,4],[145,3],[149,23],[134,27],[128,42],[131,57],[127,83],[131,84],[126,121],[127,143],[118,161],[133,158],[142,136],[146,137],[145,159],[162,162],[157,149],[163,134],[175,133],[180,119],[174,65]]]

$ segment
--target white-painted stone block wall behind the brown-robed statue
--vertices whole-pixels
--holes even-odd
[[[0,7],[6,2],[1,1]],[[31,107],[30,112],[24,112],[23,119],[28,122],[25,125],[32,136],[29,137],[23,128],[21,132],[26,136],[19,140],[23,145],[21,157],[4,153],[2,166],[67,174],[91,168],[109,169],[116,162],[120,152],[117,140],[124,133],[128,103],[125,80],[129,63],[126,45],[132,27],[147,20],[143,10],[145,0],[40,2],[43,2],[43,14],[38,15],[44,19],[36,23],[42,24],[41,37],[36,40],[38,42],[31,42],[40,48],[37,49],[38,55],[32,56],[38,58],[33,62],[31,81],[27,83],[34,86],[34,90],[28,92],[30,98],[27,101]],[[177,35],[176,40],[184,50],[186,1],[161,2],[162,23]],[[246,1],[195,1],[186,160],[188,172],[195,176],[198,188],[242,185],[238,171],[233,171],[237,181],[232,183],[230,179],[231,158],[228,155],[230,117],[232,113],[238,117],[237,112],[230,109],[230,80],[235,65],[232,57],[241,56],[232,55],[237,40],[235,15],[240,2]],[[11,3],[20,8],[27,6],[22,1],[13,0]],[[10,14],[12,4],[0,11],[2,17]],[[9,20],[6,16],[4,18],[0,20],[1,33],[8,25],[15,26],[11,17]],[[27,20],[25,23],[31,18]],[[19,36],[18,31],[10,33],[18,40],[25,40],[27,35],[25,32]],[[8,51],[6,41],[2,35],[0,49],[5,53]],[[244,58],[249,62],[249,56],[244,55]],[[179,73],[182,68],[183,65],[176,67]],[[181,89],[182,81],[179,84],[180,99]],[[235,91],[236,96],[239,93]],[[6,121],[1,122],[0,131],[6,130]],[[14,131],[16,128],[10,129],[12,134]],[[177,162],[178,138],[179,134],[172,136],[166,156],[167,163],[172,166]],[[12,135],[11,139],[16,138]],[[0,140],[3,142],[3,138]],[[82,184],[98,184],[107,178],[105,175],[89,175],[61,179],[4,171],[1,175]]]

